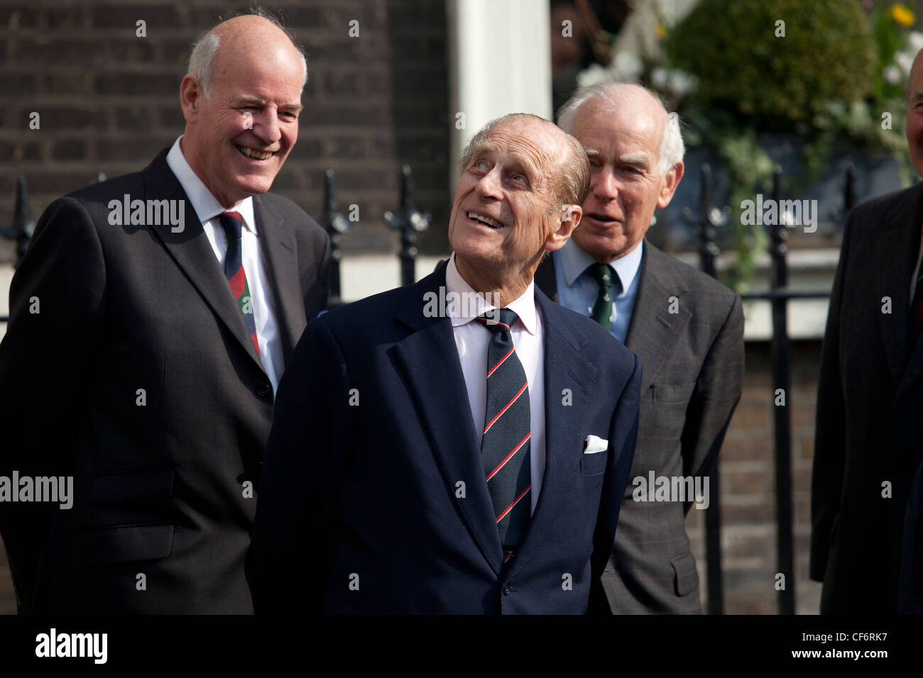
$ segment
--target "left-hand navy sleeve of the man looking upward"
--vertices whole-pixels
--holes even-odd
[[[334,502],[352,448],[350,380],[323,316],[282,375],[259,481],[251,575],[258,614],[323,613]]]

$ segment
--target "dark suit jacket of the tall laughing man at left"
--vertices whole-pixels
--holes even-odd
[[[0,504],[23,613],[252,612],[272,388],[165,158],[55,200],[13,278],[0,475],[72,475],[75,495]],[[126,194],[186,200],[185,230],[111,225]],[[282,196],[254,214],[287,361],[326,305],[330,242]]]

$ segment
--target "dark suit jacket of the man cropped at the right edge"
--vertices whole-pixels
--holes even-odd
[[[897,611],[907,496],[923,458],[923,336],[907,339],[921,222],[923,184],[864,202],[846,221],[811,480],[821,613]]]

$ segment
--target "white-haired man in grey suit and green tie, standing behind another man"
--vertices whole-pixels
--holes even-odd
[[[644,240],[683,175],[675,114],[638,85],[604,82],[576,92],[559,125],[581,142],[593,179],[580,227],[535,282],[624,342],[644,375],[638,447],[603,588],[613,613],[701,613],[685,529],[693,497],[639,502],[636,480],[707,480],[743,384],[740,297]]]

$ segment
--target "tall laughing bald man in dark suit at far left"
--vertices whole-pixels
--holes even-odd
[[[0,475],[73,476],[74,497],[0,504],[21,613],[252,612],[273,394],[327,299],[326,234],[267,193],[306,77],[277,24],[223,22],[173,148],[42,215],[0,344]]]

